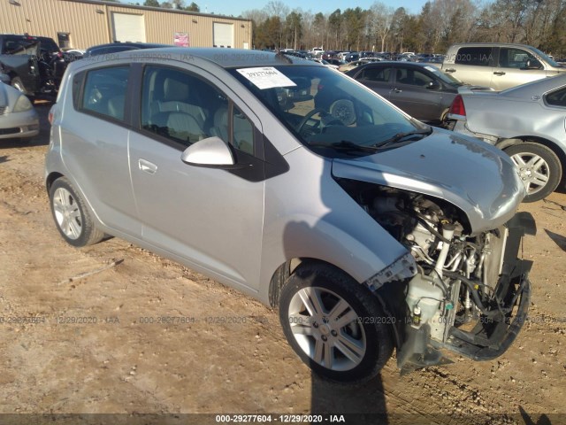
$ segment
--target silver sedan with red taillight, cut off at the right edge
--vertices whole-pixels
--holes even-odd
[[[509,154],[528,192],[524,202],[547,197],[561,184],[566,167],[566,75],[500,93],[463,94],[455,97],[447,118],[454,131]]]

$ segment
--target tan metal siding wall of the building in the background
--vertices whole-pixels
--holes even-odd
[[[0,0],[0,33],[45,35],[56,42],[57,32],[69,33],[74,48],[86,49],[111,42],[111,12],[123,12],[144,16],[147,42],[172,44],[173,34],[184,32],[188,33],[191,47],[211,47],[212,23],[226,22],[234,27],[234,48],[242,48],[246,41],[251,46],[249,20],[68,0],[18,0],[18,3],[16,6]]]

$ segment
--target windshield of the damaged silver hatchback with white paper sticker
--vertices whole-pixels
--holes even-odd
[[[269,66],[230,72],[302,144],[325,156],[393,149],[395,143],[407,142],[413,135],[423,137],[429,129],[325,66]]]

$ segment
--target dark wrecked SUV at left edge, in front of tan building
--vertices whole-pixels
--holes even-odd
[[[29,97],[54,97],[67,61],[49,37],[0,35],[0,68]]]

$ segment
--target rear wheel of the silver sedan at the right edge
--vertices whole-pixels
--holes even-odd
[[[519,170],[527,189],[523,202],[539,201],[555,191],[562,179],[562,165],[555,152],[539,143],[525,142],[505,149]]]

